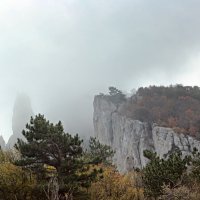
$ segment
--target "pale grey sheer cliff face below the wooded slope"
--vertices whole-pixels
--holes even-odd
[[[120,108],[103,95],[95,96],[93,105],[95,136],[115,150],[113,162],[121,172],[144,167],[148,162],[143,156],[146,149],[160,157],[166,157],[174,148],[179,148],[184,155],[194,147],[200,150],[200,141],[190,136],[120,115]]]

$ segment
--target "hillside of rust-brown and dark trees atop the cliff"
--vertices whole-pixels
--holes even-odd
[[[120,105],[119,112],[131,119],[200,138],[200,88],[197,86],[141,87]]]

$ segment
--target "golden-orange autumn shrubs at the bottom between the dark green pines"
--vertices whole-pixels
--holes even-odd
[[[112,166],[103,168],[103,176],[90,188],[91,200],[142,200],[143,188],[139,174],[120,174]]]

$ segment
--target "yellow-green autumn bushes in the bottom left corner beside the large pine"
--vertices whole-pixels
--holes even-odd
[[[12,164],[14,153],[0,151],[0,199],[33,199],[36,181],[30,171]]]

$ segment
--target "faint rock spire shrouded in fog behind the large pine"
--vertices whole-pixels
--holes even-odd
[[[25,125],[30,121],[31,116],[33,116],[33,111],[29,97],[25,94],[18,95],[13,109],[13,135],[11,135],[8,140],[6,146],[7,148],[12,148],[17,142],[17,138],[23,138],[22,130],[25,128]]]

